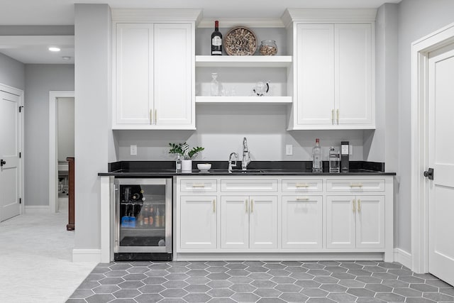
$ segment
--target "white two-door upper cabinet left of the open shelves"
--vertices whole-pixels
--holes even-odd
[[[195,129],[197,13],[159,13],[114,11],[114,129]]]

